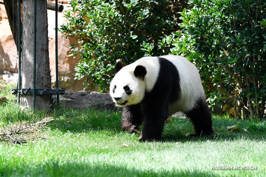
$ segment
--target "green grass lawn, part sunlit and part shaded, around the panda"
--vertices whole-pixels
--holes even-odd
[[[50,116],[55,120],[42,134],[51,138],[0,142],[0,176],[266,176],[265,121],[213,116],[216,133],[188,137],[192,124],[171,118],[162,141],[139,142],[139,135],[121,131],[120,112],[32,112],[10,102],[0,105],[0,128]],[[237,123],[241,131],[226,131]],[[257,165],[257,170],[213,170],[212,165]]]

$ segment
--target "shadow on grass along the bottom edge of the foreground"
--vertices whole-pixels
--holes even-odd
[[[86,163],[85,161],[77,162],[72,160],[66,162],[46,161],[46,163],[38,163],[35,168],[13,168],[0,167],[0,176],[218,176],[210,171],[199,170],[161,170],[154,172],[149,170],[138,170],[136,167],[128,169],[127,166],[110,165],[107,162],[98,162],[99,164]],[[14,170],[16,168],[16,170]]]

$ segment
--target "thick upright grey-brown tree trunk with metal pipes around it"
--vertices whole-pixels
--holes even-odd
[[[23,0],[22,12],[22,88],[33,89],[34,1]],[[37,0],[36,15],[36,89],[51,89],[46,1]],[[32,108],[33,95],[21,95],[21,105]],[[36,95],[37,109],[50,105],[51,95]]]

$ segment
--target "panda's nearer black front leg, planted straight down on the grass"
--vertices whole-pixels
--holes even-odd
[[[155,106],[160,105],[160,106]],[[153,104],[144,109],[143,129],[140,141],[159,140],[168,116],[166,105]]]

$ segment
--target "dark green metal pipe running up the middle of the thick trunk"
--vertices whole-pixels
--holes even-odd
[[[33,110],[35,109],[35,88],[36,88],[36,16],[37,0],[34,1],[34,51],[33,51]],[[44,83],[43,83],[44,84]]]

